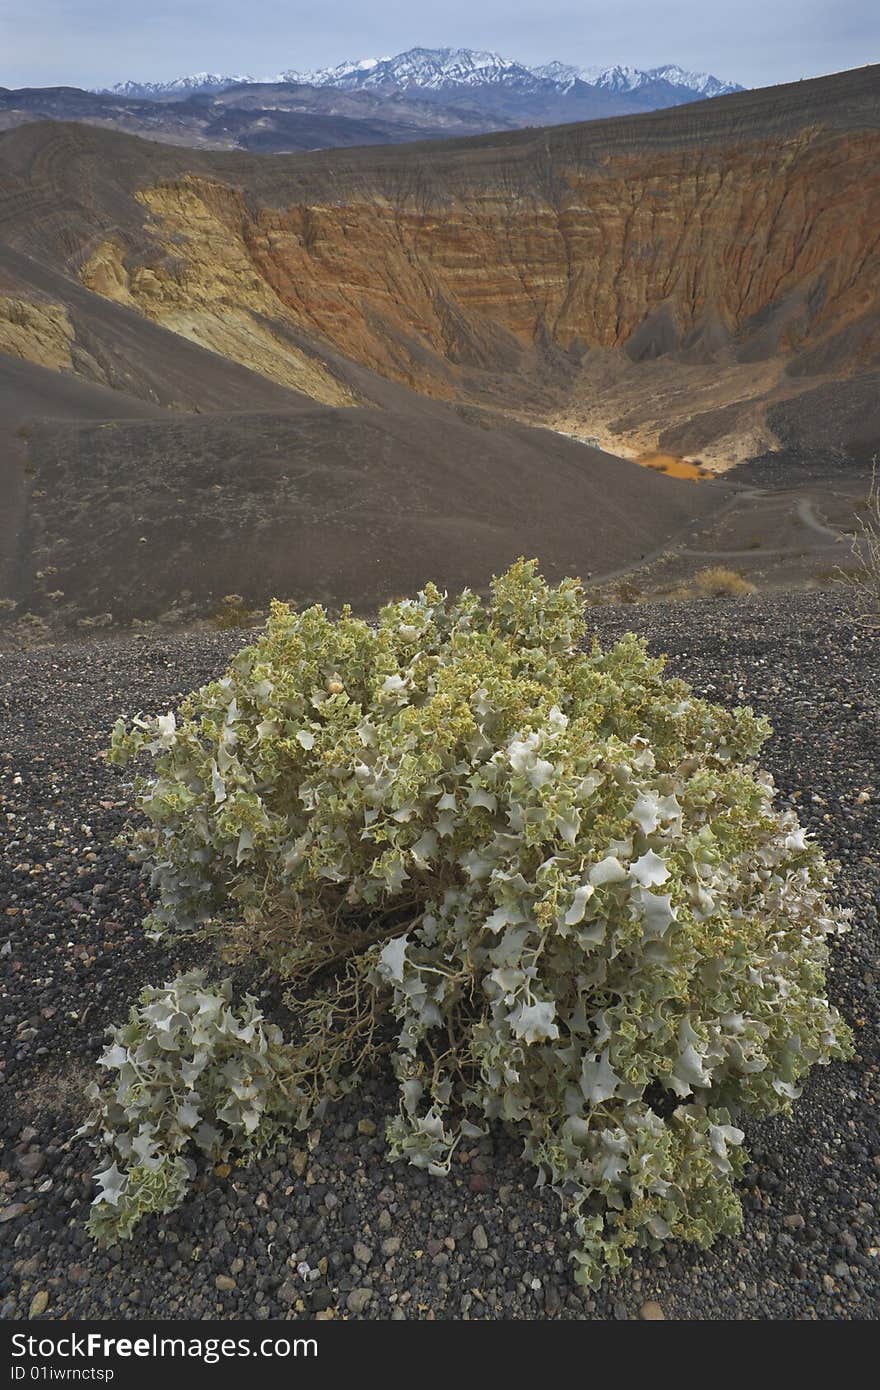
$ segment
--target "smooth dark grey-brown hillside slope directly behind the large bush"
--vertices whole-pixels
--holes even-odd
[[[428,580],[481,588],[523,553],[556,578],[602,571],[717,506],[400,388],[384,409],[192,414],[8,357],[0,466],[4,592],[63,626],[204,616],[228,592],[370,610]]]

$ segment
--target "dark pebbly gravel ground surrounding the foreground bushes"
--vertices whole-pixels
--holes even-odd
[[[831,995],[858,1058],[820,1069],[792,1119],[747,1126],[745,1229],[708,1252],[667,1247],[584,1294],[556,1200],[503,1134],[430,1179],[382,1156],[393,1087],[321,1133],[96,1251],[83,1229],[92,1155],[72,1130],[104,1027],[186,962],[146,942],[147,892],[111,847],[128,813],[100,756],[118,713],[160,710],[215,674],[241,634],[7,653],[0,694],[0,1315],[3,1318],[866,1319],[880,1309],[876,630],[837,595],[594,609],[776,737],[765,762],[840,862],[854,930]],[[658,1309],[659,1305],[659,1309]]]

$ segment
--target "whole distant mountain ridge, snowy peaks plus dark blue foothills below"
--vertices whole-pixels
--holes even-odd
[[[267,79],[204,71],[103,92],[0,88],[0,131],[82,121],[161,143],[278,154],[570,125],[738,90],[676,64],[530,68],[474,49],[409,49]]]

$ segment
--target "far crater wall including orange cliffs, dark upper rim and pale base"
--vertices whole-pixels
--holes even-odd
[[[628,452],[699,414],[723,466],[773,442],[770,403],[880,360],[879,74],[801,86],[324,157],[132,142],[70,264],[324,403],[357,395],[335,349]]]

